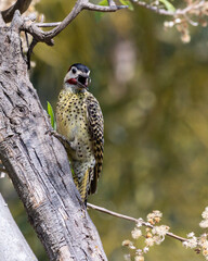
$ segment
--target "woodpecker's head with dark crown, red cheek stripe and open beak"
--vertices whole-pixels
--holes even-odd
[[[81,63],[73,64],[64,78],[65,87],[74,90],[87,89],[90,82],[90,70]]]

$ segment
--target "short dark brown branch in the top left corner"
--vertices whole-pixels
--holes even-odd
[[[9,23],[12,21],[12,17],[14,16],[14,12],[18,10],[21,13],[24,13],[29,8],[29,4],[31,3],[31,0],[17,0],[11,8],[2,11],[2,16],[5,23]]]

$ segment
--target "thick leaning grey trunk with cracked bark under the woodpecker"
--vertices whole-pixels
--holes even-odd
[[[0,159],[50,260],[107,260],[64,147],[46,134],[51,126],[29,82],[16,21],[0,26]]]

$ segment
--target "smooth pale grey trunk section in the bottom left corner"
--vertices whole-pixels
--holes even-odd
[[[0,257],[6,261],[38,261],[0,194]]]

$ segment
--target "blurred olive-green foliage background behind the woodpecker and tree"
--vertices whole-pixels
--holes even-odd
[[[47,22],[61,21],[75,1],[41,0]],[[31,82],[42,105],[53,108],[69,65],[91,69],[90,90],[105,119],[105,153],[99,190],[89,202],[144,217],[164,213],[161,223],[178,235],[202,233],[200,213],[208,206],[208,29],[194,28],[182,44],[176,29],[142,8],[104,14],[83,11],[55,38],[39,44]],[[9,178],[0,191],[40,261],[48,260]],[[89,213],[109,260],[123,260],[123,239],[133,223],[96,211]],[[167,238],[146,261],[204,260]]]

